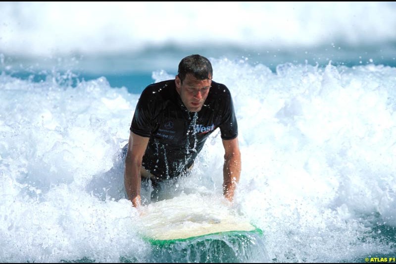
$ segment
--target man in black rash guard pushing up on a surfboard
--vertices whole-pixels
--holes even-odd
[[[180,61],[174,80],[143,91],[125,158],[125,189],[134,207],[141,205],[141,177],[155,184],[186,173],[217,127],[225,150],[223,193],[232,201],[241,174],[238,125],[230,91],[212,76],[207,58],[190,55]]]

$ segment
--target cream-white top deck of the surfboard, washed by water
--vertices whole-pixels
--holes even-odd
[[[149,240],[183,240],[257,229],[219,198],[198,194],[152,203],[142,210],[141,220],[144,236]]]

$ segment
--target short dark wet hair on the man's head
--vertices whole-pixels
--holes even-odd
[[[198,54],[187,56],[180,61],[177,72],[182,83],[189,73],[198,80],[211,79],[213,76],[212,64],[207,58]]]

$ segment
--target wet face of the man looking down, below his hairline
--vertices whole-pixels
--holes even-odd
[[[192,74],[187,74],[182,84],[179,76],[176,76],[176,91],[189,111],[198,112],[202,108],[212,83],[209,78],[197,80]]]

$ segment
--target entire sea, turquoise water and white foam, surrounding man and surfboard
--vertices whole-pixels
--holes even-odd
[[[0,261],[392,262],[395,12],[393,2],[1,2]],[[263,236],[161,249],[123,196],[119,150],[144,87],[193,53],[233,95],[243,171],[232,210]],[[213,133],[164,195],[217,203],[222,157]]]

